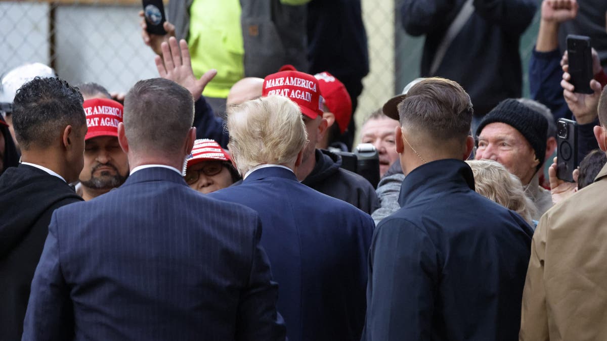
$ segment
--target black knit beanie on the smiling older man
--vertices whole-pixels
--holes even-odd
[[[493,108],[476,128],[476,136],[490,123],[506,123],[517,129],[535,150],[535,157],[540,160],[537,169],[544,164],[546,156],[546,133],[548,133],[548,120],[541,113],[527,107],[517,100],[509,98],[503,100]]]

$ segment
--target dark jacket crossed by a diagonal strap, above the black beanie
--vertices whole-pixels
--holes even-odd
[[[534,17],[535,0],[473,0],[474,12],[450,44],[435,75],[430,66],[438,45],[466,0],[404,0],[402,25],[413,36],[426,35],[421,76],[441,76],[470,95],[476,115],[501,100],[521,96],[518,53],[521,35]]]

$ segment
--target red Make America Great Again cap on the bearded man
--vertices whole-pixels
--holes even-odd
[[[123,106],[107,98],[92,98],[83,103],[89,131],[84,140],[98,136],[118,137],[118,123],[122,122]]]

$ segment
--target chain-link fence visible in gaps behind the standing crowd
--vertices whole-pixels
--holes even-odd
[[[362,0],[371,70],[359,98],[359,124],[419,76],[424,38],[404,33],[398,2]],[[141,40],[140,8],[139,0],[0,0],[0,73],[39,61],[70,83],[94,81],[124,92],[138,79],[157,76],[154,54]],[[537,25],[538,15],[521,39],[525,93]]]

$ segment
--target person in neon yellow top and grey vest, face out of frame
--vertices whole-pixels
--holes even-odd
[[[144,7],[151,2],[161,7],[161,1],[151,0],[144,0]],[[307,2],[171,1],[168,21],[162,24],[166,35],[151,32],[142,21],[141,36],[157,55],[169,37],[186,39],[194,74],[200,77],[207,70],[217,70],[203,95],[213,111],[222,114],[229,89],[245,76],[263,78],[284,64],[308,69],[306,7],[302,6]]]

